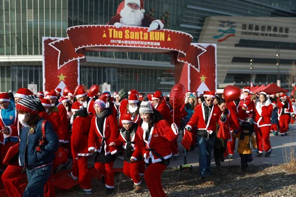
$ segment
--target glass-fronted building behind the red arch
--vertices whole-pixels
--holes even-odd
[[[296,17],[296,12],[292,11],[296,10],[295,0],[144,1],[146,14],[163,20],[165,29],[190,33],[193,42],[198,42],[208,16]],[[66,30],[71,26],[107,24],[116,14],[120,2],[121,0],[0,0],[0,91],[15,92],[32,82],[41,90],[42,36],[66,37]],[[150,53],[88,52],[86,55],[97,57],[98,62],[100,58],[151,61],[153,64],[169,63],[171,60],[168,55]],[[19,56],[27,57],[27,60],[15,61]],[[39,61],[30,61],[31,57]],[[272,77],[266,76],[266,80],[268,78]],[[90,87],[92,84],[108,82],[111,84],[111,91],[126,88],[141,92],[153,92],[156,89],[169,92],[174,81],[172,66],[159,69],[151,66],[131,68],[124,64],[107,66],[100,63],[97,66],[82,63],[80,66],[81,83]]]

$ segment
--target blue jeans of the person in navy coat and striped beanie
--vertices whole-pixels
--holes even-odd
[[[24,191],[23,197],[44,197],[44,185],[52,172],[52,164],[44,167],[28,169],[28,185]]]

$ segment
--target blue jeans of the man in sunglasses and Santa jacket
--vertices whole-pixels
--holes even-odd
[[[199,148],[199,176],[208,175],[211,171],[211,159],[215,137],[196,137]]]

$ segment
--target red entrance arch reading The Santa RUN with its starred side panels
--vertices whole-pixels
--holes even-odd
[[[173,30],[148,32],[145,27],[116,28],[110,25],[74,26],[67,33],[67,38],[52,42],[44,40],[45,78],[47,66],[51,66],[50,72],[55,73],[50,73],[52,77],[60,75],[61,70],[67,77],[73,70],[77,72],[77,60],[85,58],[84,53],[88,51],[162,53],[172,55],[176,83],[183,83],[187,90],[198,91],[198,94],[205,90],[216,90],[216,45],[191,43],[192,36],[188,33]],[[48,49],[50,52],[47,47],[52,48]],[[50,58],[47,62],[48,55]],[[50,83],[56,85],[56,77]],[[67,79],[70,80],[70,77],[66,78],[66,85],[74,83]],[[78,78],[72,79],[77,83]],[[45,89],[54,84],[48,84],[45,80]]]

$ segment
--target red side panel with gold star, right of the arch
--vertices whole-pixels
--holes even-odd
[[[186,90],[197,92],[217,90],[217,45],[192,43],[195,53],[187,54],[197,60],[196,66],[175,61],[176,83],[182,83]]]

